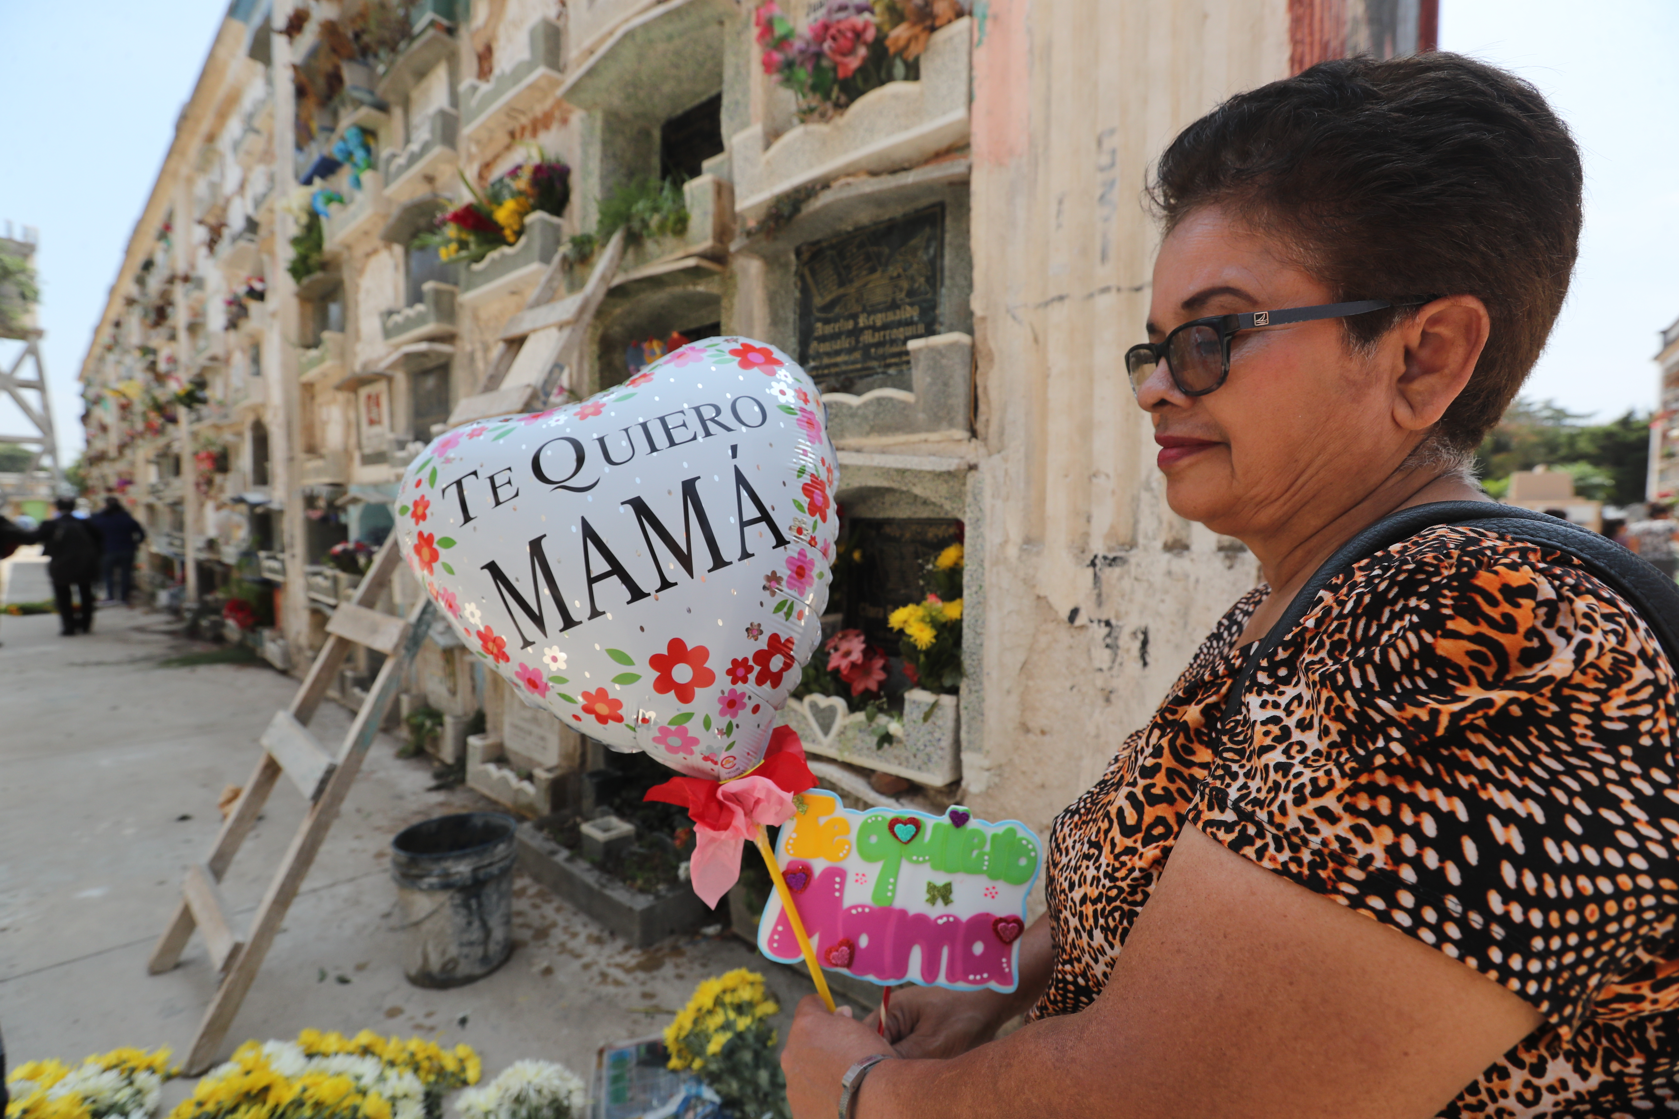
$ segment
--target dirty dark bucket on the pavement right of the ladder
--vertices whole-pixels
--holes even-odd
[[[391,877],[415,986],[462,986],[514,950],[514,832],[502,812],[440,815],[391,841]]]

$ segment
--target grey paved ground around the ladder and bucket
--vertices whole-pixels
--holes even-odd
[[[39,570],[12,574],[24,589],[12,601],[42,597]],[[91,636],[57,631],[50,614],[0,622],[0,1028],[13,1062],[114,1045],[185,1054],[213,990],[203,943],[163,976],[146,975],[146,958],[183,864],[215,837],[218,795],[248,777],[257,735],[296,681],[260,664],[160,668],[205,648],[175,636],[165,614],[106,609]],[[334,743],[348,725],[329,701],[314,726]],[[626,948],[522,877],[517,950],[499,973],[452,991],[410,986],[390,839],[487,802],[428,792],[430,767],[395,750],[390,736],[374,743],[228,1049],[304,1027],[371,1027],[465,1040],[490,1074],[541,1057],[586,1075],[598,1045],[663,1028],[707,975],[757,966],[787,1010],[809,991],[727,936]],[[301,797],[280,782],[223,882],[240,928],[301,815]]]

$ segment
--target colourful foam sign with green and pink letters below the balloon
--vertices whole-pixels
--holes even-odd
[[[794,807],[776,861],[824,968],[881,985],[1016,988],[1026,894],[1043,856],[1029,827],[987,824],[960,805],[944,815],[855,812],[818,790]],[[757,946],[779,963],[803,958],[776,894]]]

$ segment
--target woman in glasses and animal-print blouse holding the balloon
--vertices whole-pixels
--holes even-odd
[[[1172,508],[1263,584],[1054,822],[1012,995],[814,1000],[799,1119],[1642,1116],[1679,1107],[1679,725],[1570,554],[1436,527],[1573,268],[1580,158],[1521,79],[1348,59],[1187,128],[1125,356]],[[1006,1022],[1026,1023],[992,1040]]]

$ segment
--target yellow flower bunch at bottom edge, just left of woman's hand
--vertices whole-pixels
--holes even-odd
[[[756,971],[735,968],[702,981],[665,1028],[670,1067],[695,1072],[739,1119],[787,1119],[787,1082],[769,1023],[779,1012]]]

